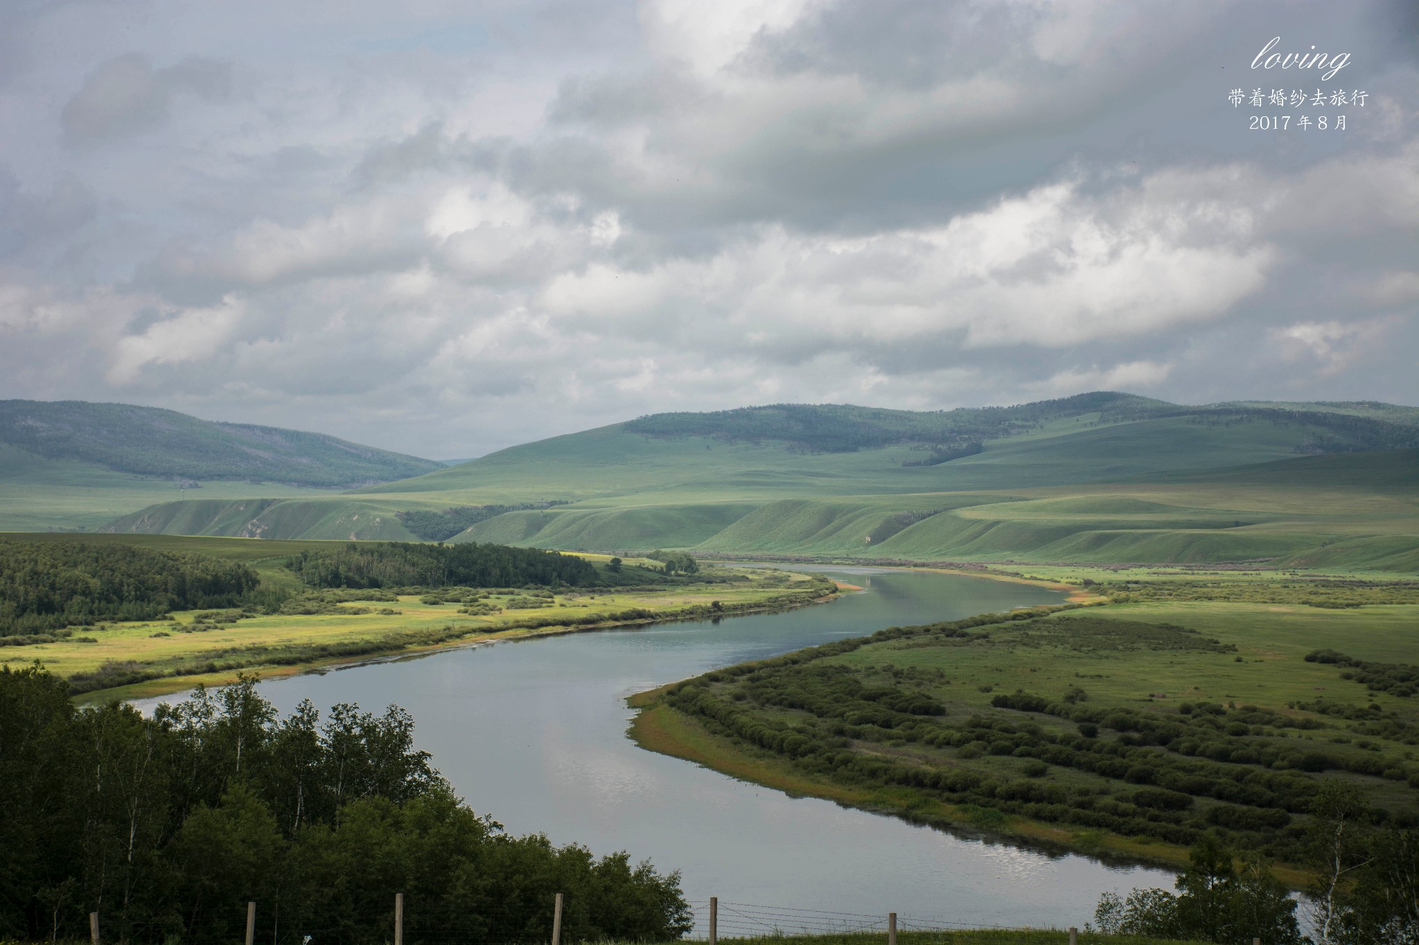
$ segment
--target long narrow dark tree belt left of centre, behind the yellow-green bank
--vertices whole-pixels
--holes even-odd
[[[287,567],[315,588],[595,587],[602,582],[585,558],[502,544],[350,543],[302,551]]]

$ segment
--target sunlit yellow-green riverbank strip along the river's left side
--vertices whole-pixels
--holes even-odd
[[[766,613],[830,601],[836,592],[827,578],[759,570],[666,589],[565,589],[535,601],[494,594],[484,606],[436,595],[365,602],[341,592],[339,601],[318,601],[312,613],[189,611],[165,621],[82,628],[70,639],[0,649],[0,664],[38,659],[70,679],[84,703],[146,698],[199,683],[226,684],[238,673],[291,676],[522,636]]]

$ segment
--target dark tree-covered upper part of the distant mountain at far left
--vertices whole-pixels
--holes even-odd
[[[0,401],[0,443],[159,479],[247,479],[352,489],[443,463],[278,426],[204,421],[177,411],[88,401]]]

